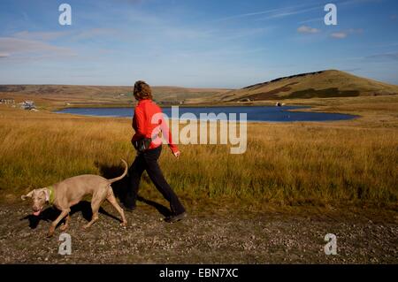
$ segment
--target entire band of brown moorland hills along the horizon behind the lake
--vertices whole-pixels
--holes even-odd
[[[153,87],[157,103],[237,103],[396,95],[398,86],[361,78],[348,72],[327,70],[301,73],[258,83],[241,89]],[[32,99],[53,106],[127,105],[134,103],[133,87],[71,86],[71,85],[0,85],[0,98],[17,102]]]

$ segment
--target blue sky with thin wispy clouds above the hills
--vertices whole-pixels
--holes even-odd
[[[2,0],[0,84],[242,88],[325,69],[398,84],[397,27],[396,0]]]

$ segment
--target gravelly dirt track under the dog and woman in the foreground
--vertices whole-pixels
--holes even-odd
[[[0,263],[398,263],[398,217],[347,212],[345,216],[293,216],[275,212],[191,212],[177,224],[149,206],[126,213],[129,225],[106,214],[88,232],[88,202],[72,215],[72,255],[58,255],[49,221],[28,216],[27,203],[0,205]],[[111,206],[103,210],[117,215]],[[45,210],[43,217],[56,212]],[[28,217],[27,217],[28,216]],[[29,226],[30,225],[30,226]],[[338,255],[325,255],[326,233],[337,236]]]

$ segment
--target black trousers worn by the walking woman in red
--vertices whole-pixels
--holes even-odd
[[[148,149],[135,157],[134,163],[128,169],[130,187],[126,194],[125,204],[129,208],[135,207],[142,173],[143,171],[147,171],[149,179],[155,184],[157,190],[170,202],[172,214],[179,215],[185,209],[177,194],[172,191],[172,187],[165,180],[159,164],[157,164],[157,159],[161,152],[162,146],[159,146],[156,149]]]

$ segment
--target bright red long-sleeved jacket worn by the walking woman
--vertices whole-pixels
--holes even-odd
[[[149,149],[155,149],[162,145],[162,138],[159,136],[162,132],[172,152],[179,151],[178,147],[172,143],[172,134],[165,122],[162,110],[152,100],[140,100],[135,106],[133,128],[135,133],[132,141],[152,137]]]

